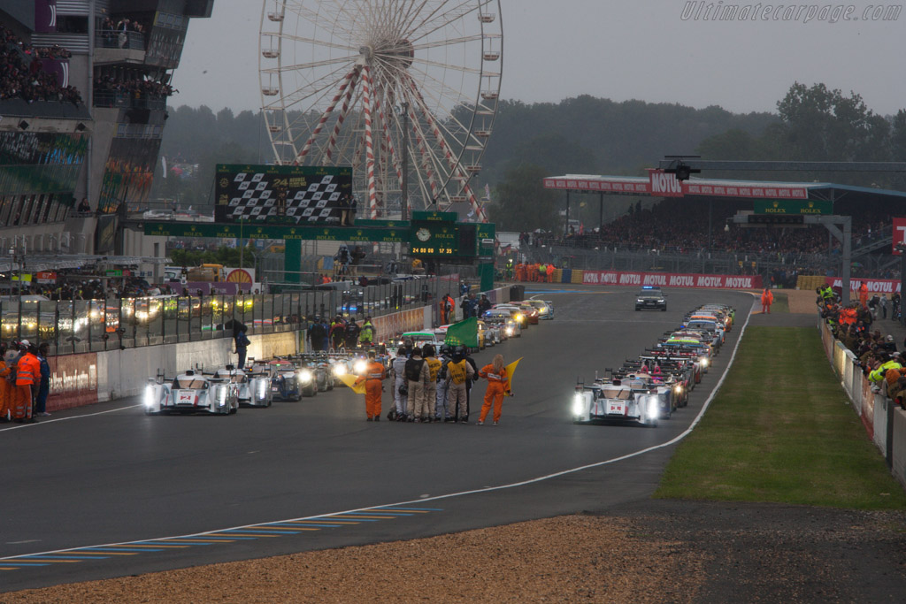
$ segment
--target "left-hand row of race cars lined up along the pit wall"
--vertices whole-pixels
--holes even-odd
[[[497,304],[478,321],[478,349],[519,337],[529,324],[554,319],[551,302],[529,301]],[[436,330],[402,334],[416,345],[444,345],[449,325]],[[354,350],[309,352],[273,360],[248,360],[247,369],[226,365],[212,371],[198,366],[167,378],[159,373],[149,379],[143,403],[147,415],[210,413],[233,415],[239,407],[270,407],[275,400],[299,401],[318,392],[342,386],[342,377],[362,375],[369,351],[390,369],[393,360],[384,344]]]

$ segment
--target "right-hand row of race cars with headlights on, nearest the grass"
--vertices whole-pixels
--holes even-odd
[[[670,419],[689,404],[689,393],[708,373],[735,316],[725,304],[699,306],[679,330],[665,332],[637,359],[627,359],[615,371],[604,369],[604,377],[595,375],[592,384],[580,381],[571,403],[573,423],[657,427],[661,419]]]

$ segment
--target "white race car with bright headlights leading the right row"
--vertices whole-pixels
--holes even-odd
[[[657,427],[660,400],[647,391],[636,391],[622,379],[596,379],[591,386],[579,384],[571,405],[573,423],[635,422]]]

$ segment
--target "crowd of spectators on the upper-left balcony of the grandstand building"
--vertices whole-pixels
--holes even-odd
[[[61,86],[57,76],[46,72],[42,59],[68,58],[59,46],[34,48],[0,25],[0,100],[72,102],[79,105],[82,95],[72,86]]]

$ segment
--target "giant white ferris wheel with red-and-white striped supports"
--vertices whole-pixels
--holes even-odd
[[[351,166],[370,218],[467,202],[487,219],[472,180],[500,95],[499,0],[264,0],[260,32],[276,163]]]

